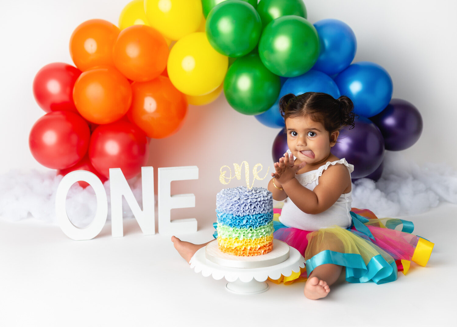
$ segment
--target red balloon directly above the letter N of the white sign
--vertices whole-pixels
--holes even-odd
[[[90,162],[107,178],[110,168],[121,168],[126,179],[135,177],[148,162],[148,156],[146,135],[124,120],[100,125],[90,137]]]

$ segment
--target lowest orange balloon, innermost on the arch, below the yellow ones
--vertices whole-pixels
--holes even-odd
[[[168,77],[132,84],[133,100],[128,119],[154,139],[175,134],[187,113],[186,96]]]

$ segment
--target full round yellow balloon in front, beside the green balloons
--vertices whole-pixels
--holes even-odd
[[[175,43],[167,70],[173,85],[190,96],[208,94],[218,88],[228,68],[228,57],[213,49],[203,32],[186,35]]]

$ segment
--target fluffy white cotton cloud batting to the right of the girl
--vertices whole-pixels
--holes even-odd
[[[419,214],[440,201],[457,203],[457,172],[442,164],[419,166],[386,151],[379,181],[355,181],[352,199],[352,207],[370,209],[378,217]]]

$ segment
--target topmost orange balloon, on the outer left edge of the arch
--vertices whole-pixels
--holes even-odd
[[[79,70],[114,66],[112,50],[121,30],[103,19],[91,19],[76,27],[70,38],[70,55]]]

